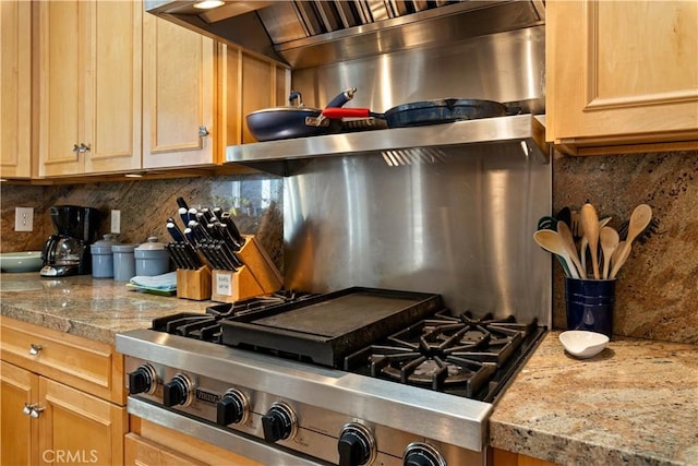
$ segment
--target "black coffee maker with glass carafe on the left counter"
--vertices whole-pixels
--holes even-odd
[[[60,277],[89,274],[89,244],[96,239],[99,211],[77,205],[57,205],[49,210],[56,234],[48,237],[44,244],[40,275]]]

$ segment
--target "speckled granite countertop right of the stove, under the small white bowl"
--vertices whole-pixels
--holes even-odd
[[[495,406],[493,446],[564,465],[698,465],[698,347],[617,337],[578,360],[558,335]]]

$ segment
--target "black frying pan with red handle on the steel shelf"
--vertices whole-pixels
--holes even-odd
[[[398,105],[385,113],[376,113],[369,108],[325,108],[322,115],[329,119],[373,117],[384,119],[388,128],[405,128],[504,117],[510,115],[510,109],[493,100],[443,98]]]

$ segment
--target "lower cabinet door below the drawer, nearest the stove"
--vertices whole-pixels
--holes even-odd
[[[125,407],[39,377],[40,463],[123,464]]]

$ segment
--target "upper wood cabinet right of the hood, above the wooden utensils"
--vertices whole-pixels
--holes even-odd
[[[697,144],[698,2],[549,1],[546,47],[549,141]]]

